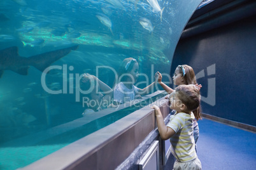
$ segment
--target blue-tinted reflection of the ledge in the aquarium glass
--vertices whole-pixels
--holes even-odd
[[[11,150],[13,150],[13,152],[20,150],[20,152],[26,153],[29,159],[15,163],[17,164],[15,166],[16,168],[24,167],[46,155],[52,154],[60,148],[66,147],[70,143],[90,134],[94,134],[94,132],[99,129],[104,129],[105,126],[115,124],[115,122],[118,122],[118,119],[127,117],[139,108],[143,109],[153,101],[158,101],[159,98],[166,95],[167,93],[164,91],[156,91],[151,95],[144,96],[142,99],[124,103],[117,108],[106,108],[99,112],[88,114],[80,119],[46,129],[45,131],[8,141],[3,143],[1,148],[8,150],[8,152],[11,152]],[[89,144],[90,143],[94,143],[94,141],[89,142]],[[11,150],[9,148],[11,148]],[[19,154],[15,154],[15,157],[19,157]],[[22,155],[20,155],[20,157],[22,157]]]

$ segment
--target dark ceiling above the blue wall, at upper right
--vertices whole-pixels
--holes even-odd
[[[191,16],[181,34],[181,39],[256,15],[256,1],[215,0],[202,4]]]

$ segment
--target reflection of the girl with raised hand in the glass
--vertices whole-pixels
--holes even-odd
[[[119,82],[114,88],[113,95],[115,104],[122,104],[150,93],[155,85],[155,81],[149,86],[146,86],[146,88],[140,89],[134,86],[134,83],[138,80],[138,76],[139,64],[137,60],[134,58],[125,58],[118,69]]]

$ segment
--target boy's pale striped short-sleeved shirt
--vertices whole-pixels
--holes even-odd
[[[167,127],[173,129],[175,134],[170,138],[171,153],[180,162],[188,162],[197,157],[193,137],[194,114],[178,113],[171,115]]]

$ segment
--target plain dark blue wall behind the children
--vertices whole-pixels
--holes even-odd
[[[208,79],[215,78],[216,103],[202,101],[203,113],[256,126],[255,18],[239,20],[178,43],[171,74],[180,64],[190,65],[196,74],[204,70],[205,76],[197,80],[203,85],[204,97],[208,97]],[[207,75],[206,68],[213,64],[215,74]]]

